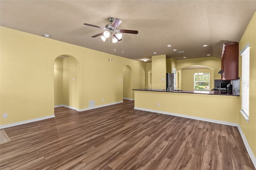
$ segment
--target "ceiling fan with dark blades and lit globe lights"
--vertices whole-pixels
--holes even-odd
[[[116,43],[117,41],[122,40],[122,33],[132,33],[132,34],[139,33],[138,31],[134,31],[134,30],[117,29],[118,25],[120,25],[120,23],[122,22],[122,20],[120,20],[118,18],[114,19],[114,18],[110,17],[110,18],[108,18],[108,20],[110,21],[110,23],[105,25],[105,27],[100,27],[100,26],[89,24],[89,23],[84,23],[84,25],[88,25],[88,26],[91,26],[91,27],[96,27],[96,28],[106,30],[106,31],[104,31],[102,33],[98,33],[98,34],[96,34],[92,37],[98,37],[98,36],[102,35],[101,39],[103,41],[105,41],[111,35],[113,43]]]

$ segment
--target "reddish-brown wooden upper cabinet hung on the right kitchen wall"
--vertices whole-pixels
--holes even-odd
[[[223,44],[221,56],[221,69],[223,74],[222,80],[238,79],[238,64],[239,64],[239,44],[225,43]]]

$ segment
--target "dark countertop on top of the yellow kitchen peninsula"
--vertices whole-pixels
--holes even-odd
[[[140,91],[152,91],[152,92],[172,92],[172,93],[193,93],[193,94],[213,94],[213,95],[224,95],[224,96],[239,96],[238,94],[228,91],[228,90],[213,90],[213,91],[188,91],[188,90],[171,90],[166,91],[165,89],[149,89],[149,88],[139,88],[133,90],[140,90]]]

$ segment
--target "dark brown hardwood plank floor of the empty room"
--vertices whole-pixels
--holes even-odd
[[[133,108],[58,107],[55,118],[6,128],[0,169],[255,170],[237,127]]]

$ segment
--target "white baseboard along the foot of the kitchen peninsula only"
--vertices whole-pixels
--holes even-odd
[[[165,114],[165,115],[185,117],[185,118],[189,118],[189,119],[196,119],[196,120],[201,120],[201,121],[208,121],[208,122],[212,122],[212,123],[219,123],[219,124],[223,124],[223,125],[230,125],[230,126],[238,127],[238,123],[232,123],[232,122],[227,122],[227,121],[219,121],[219,120],[214,120],[214,119],[206,119],[206,118],[202,118],[202,117],[181,115],[181,114],[177,114],[177,113],[170,113],[170,112],[165,112],[165,111],[144,109],[144,108],[140,108],[140,107],[134,107],[134,109],[143,110],[143,111],[150,111],[150,112],[154,112],[154,113],[161,113],[161,114]]]

